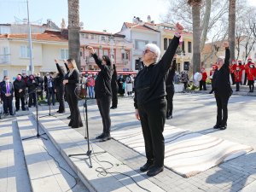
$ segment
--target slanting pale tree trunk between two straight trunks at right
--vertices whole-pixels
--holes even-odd
[[[204,15],[204,19],[201,27],[202,28],[201,44],[200,44],[201,51],[204,49],[206,40],[207,40],[207,32],[208,32],[209,20],[211,15],[211,6],[212,6],[212,0],[207,0],[206,14]]]

